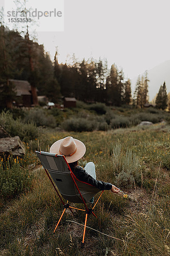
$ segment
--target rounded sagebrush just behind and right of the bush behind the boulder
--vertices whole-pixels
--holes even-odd
[[[28,110],[24,119],[26,122],[34,122],[37,126],[56,127],[55,117],[48,115],[48,112],[42,108],[32,108]]]

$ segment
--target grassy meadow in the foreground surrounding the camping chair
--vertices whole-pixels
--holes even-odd
[[[94,230],[86,229],[84,249],[82,212],[67,210],[53,233],[62,205],[34,154],[66,136],[86,145],[79,165],[93,161],[98,180],[129,195],[103,193],[98,218],[88,216]],[[25,157],[1,157],[0,256],[169,256],[169,137],[168,123],[83,132],[44,128],[26,143]]]

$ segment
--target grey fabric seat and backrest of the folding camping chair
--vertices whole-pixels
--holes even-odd
[[[87,203],[100,190],[88,183],[78,180],[63,155],[35,151],[44,169],[50,173],[62,197],[74,203]],[[77,186],[76,186],[77,185]],[[78,189],[79,191],[78,191]],[[82,198],[79,194],[82,195]]]

